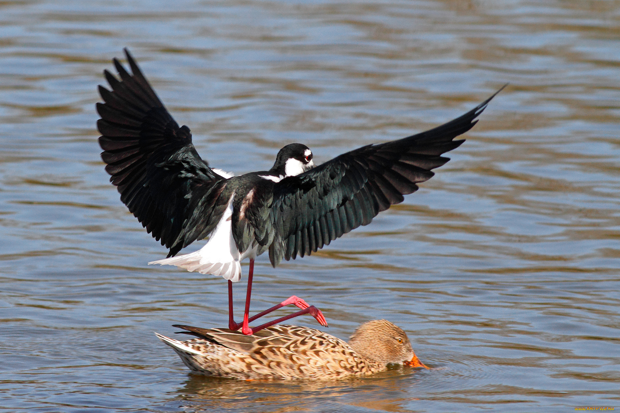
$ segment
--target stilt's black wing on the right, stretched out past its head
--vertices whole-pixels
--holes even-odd
[[[502,87],[503,89],[503,87]],[[502,90],[500,89],[500,90]],[[381,211],[404,201],[448,162],[441,154],[460,146],[453,141],[477,123],[490,98],[446,124],[398,141],[368,145],[342,154],[275,185],[270,219],[275,237],[269,258],[276,266],[316,252]]]

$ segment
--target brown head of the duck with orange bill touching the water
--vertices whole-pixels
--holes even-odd
[[[407,334],[387,320],[373,320],[361,324],[349,337],[348,344],[374,362],[428,368],[416,357]]]

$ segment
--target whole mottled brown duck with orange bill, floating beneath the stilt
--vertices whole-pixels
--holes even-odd
[[[391,364],[424,365],[407,333],[387,320],[361,324],[345,342],[314,328],[278,324],[246,336],[228,328],[184,329],[197,338],[155,335],[192,373],[240,380],[334,380],[383,372]]]

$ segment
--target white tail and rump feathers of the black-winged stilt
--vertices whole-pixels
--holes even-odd
[[[232,237],[231,215],[232,199],[228,201],[228,207],[218,222],[218,226],[211,233],[211,237],[205,246],[190,254],[184,254],[172,258],[151,261],[149,264],[175,265],[198,271],[200,274],[213,274],[222,276],[224,279],[237,282],[241,280],[241,260],[256,258],[258,245],[252,245],[244,253],[237,250],[237,245]]]

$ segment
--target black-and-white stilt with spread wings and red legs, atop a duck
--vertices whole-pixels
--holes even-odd
[[[121,201],[170,250],[168,258],[149,264],[228,279],[229,328],[241,327],[244,334],[306,313],[327,326],[321,311],[295,296],[250,318],[254,258],[269,251],[277,266],[370,224],[379,212],[402,202],[403,194],[416,191],[416,183],[433,176],[433,168],[448,162],[441,154],[464,142],[453,139],[476,124],[499,92],[453,121],[398,141],[363,146],[318,166],[307,146],[290,144],[278,152],[270,170],[232,176],[201,159],[190,129],[179,127],[126,49],[125,54],[132,74],[113,59],[120,80],[106,70],[112,91],[99,86],[105,101],[97,103],[105,170]],[[206,237],[200,250],[175,256]],[[246,308],[244,321],[235,323],[232,282],[241,279],[244,258],[250,259]],[[302,310],[249,328],[250,322],[289,304]]]

